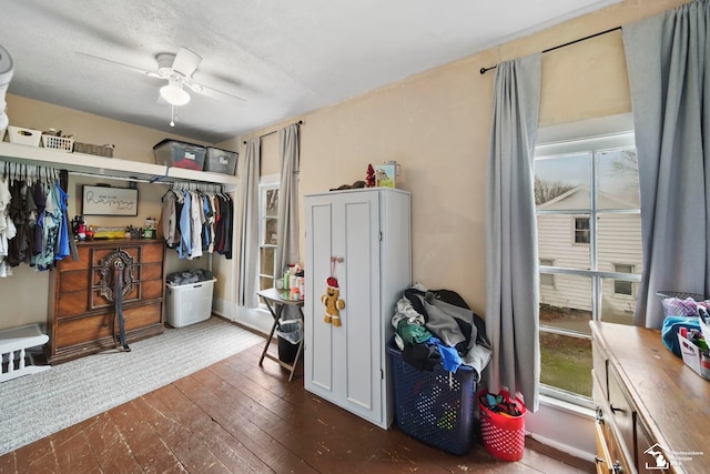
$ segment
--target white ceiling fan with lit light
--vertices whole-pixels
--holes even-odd
[[[187,48],[180,48],[176,54],[173,53],[160,53],[155,57],[158,63],[156,71],[146,71],[144,69],[135,68],[133,65],[124,64],[121,62],[112,61],[110,59],[100,58],[85,52],[77,52],[78,54],[108,62],[122,68],[128,68],[133,71],[145,74],[150,78],[156,78],[166,80],[168,84],[160,88],[160,100],[164,100],[168,104],[173,107],[184,105],[190,102],[190,93],[185,89],[190,89],[193,92],[204,93],[210,95],[225,95],[239,101],[245,102],[239,95],[231,94],[229,92],[220,91],[209,88],[203,84],[199,84],[193,81],[192,74],[195,72],[202,57],[200,54],[189,50]]]

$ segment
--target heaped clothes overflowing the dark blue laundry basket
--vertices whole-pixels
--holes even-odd
[[[420,371],[434,371],[440,365],[445,371],[456,372],[460,365],[468,365],[480,381],[490,362],[490,342],[483,317],[454,291],[429,291],[414,284],[397,302],[392,325],[402,359]]]

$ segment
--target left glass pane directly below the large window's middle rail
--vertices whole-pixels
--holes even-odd
[[[540,326],[590,334],[591,278],[555,275],[555,288],[540,288]]]

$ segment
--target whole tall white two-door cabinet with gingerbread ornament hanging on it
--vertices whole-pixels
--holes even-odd
[[[410,196],[389,188],[306,195],[305,387],[387,428],[394,416],[386,344],[412,285]],[[324,321],[337,279],[342,325]]]

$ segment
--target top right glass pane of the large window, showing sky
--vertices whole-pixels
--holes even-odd
[[[597,153],[597,209],[639,209],[636,150]]]

